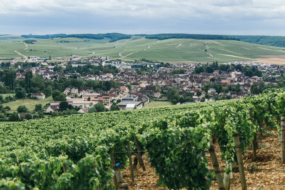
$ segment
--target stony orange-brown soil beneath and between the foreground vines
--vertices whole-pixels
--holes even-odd
[[[277,131],[271,131],[278,134]],[[264,189],[264,190],[285,190],[285,165],[281,165],[280,159],[280,145],[278,144],[278,135],[272,134],[258,134],[258,150],[257,158],[253,160],[251,148],[247,148],[245,156],[243,156],[245,175],[247,181],[247,189]],[[221,152],[217,143],[214,143],[215,151],[219,161],[219,166],[223,174],[225,169],[225,162],[221,160]],[[137,184],[140,184],[140,189],[149,190],[164,190],[167,188],[162,187],[156,183],[158,175],[155,175],[155,170],[150,167],[147,162],[147,155],[143,155],[146,171],[143,171],[142,167],[138,164],[137,169],[134,171],[135,182],[131,181],[130,167],[127,166],[122,171],[123,179],[129,184],[129,189],[137,189]],[[211,172],[214,172],[211,162],[210,154],[206,154],[208,160],[208,167]],[[135,156],[132,156],[133,162]],[[211,190],[218,190],[217,181],[213,180],[210,186]],[[239,177],[239,169],[237,164],[233,167],[233,179],[230,180],[230,189],[240,190],[241,183]]]

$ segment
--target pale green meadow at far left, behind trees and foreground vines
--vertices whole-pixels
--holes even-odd
[[[17,111],[17,108],[19,107],[19,105],[25,105],[29,111],[33,111],[35,109],[35,105],[36,104],[42,104],[42,106],[44,107],[47,103],[50,103],[50,101],[52,101],[52,97],[47,97],[43,100],[40,99],[20,99],[17,101],[13,101],[13,102],[9,102],[9,103],[5,103],[2,104],[3,107],[5,106],[10,106],[11,110],[8,113],[13,113],[14,111]]]

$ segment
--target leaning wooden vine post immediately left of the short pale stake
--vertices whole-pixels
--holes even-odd
[[[216,155],[215,148],[213,146],[212,141],[210,141],[209,152],[210,152],[211,160],[212,160],[212,163],[213,163],[213,168],[214,168],[214,171],[215,171],[215,174],[216,174],[217,182],[218,182],[218,185],[219,185],[219,189],[220,190],[225,190],[226,188],[225,188],[225,185],[224,185],[224,182],[223,182],[221,169],[219,167],[219,162],[218,162],[217,155]]]

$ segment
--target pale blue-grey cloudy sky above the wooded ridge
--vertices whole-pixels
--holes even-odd
[[[284,0],[0,0],[0,34],[285,36]]]

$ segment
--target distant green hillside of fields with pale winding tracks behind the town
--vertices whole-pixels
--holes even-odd
[[[113,59],[119,58],[122,60],[146,58],[147,60],[163,62],[217,61],[224,63],[260,58],[258,55],[283,55],[285,53],[282,48],[249,44],[235,40],[157,40],[133,36],[131,39],[109,43],[109,38],[95,40],[87,38],[23,39],[23,37],[20,37],[16,39],[15,36],[15,39],[6,40],[4,37],[0,38],[0,57],[19,57],[20,55],[14,52],[14,50],[19,50],[18,52],[26,56],[40,56],[44,58],[49,58],[49,56],[51,58],[66,57],[68,59],[74,56],[82,58],[109,56]],[[27,47],[25,47],[23,40],[28,39],[36,39],[38,41],[34,44],[27,44]],[[62,40],[69,42],[61,43],[60,41]],[[240,58],[233,56],[239,56]]]

